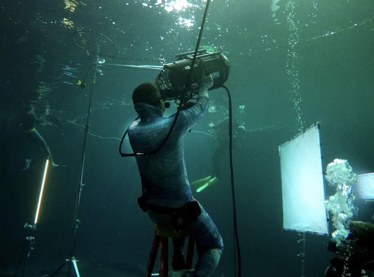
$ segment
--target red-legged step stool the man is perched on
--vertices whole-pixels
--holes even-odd
[[[168,274],[169,274],[168,239],[169,237],[186,237],[186,236],[176,234],[174,229],[171,227],[160,226],[157,224],[156,224],[156,227],[154,227],[153,233],[154,233],[153,244],[152,244],[151,253],[148,259],[148,265],[147,265],[147,269],[145,270],[144,277],[152,276],[154,262],[156,261],[156,255],[159,249],[160,249],[159,277],[168,277]],[[195,242],[191,238],[189,238],[188,248],[187,248],[187,258],[186,258],[186,267],[189,269],[192,268],[194,245],[195,245]]]

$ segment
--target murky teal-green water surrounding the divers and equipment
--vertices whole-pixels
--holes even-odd
[[[46,181],[40,219],[34,233],[35,250],[30,270],[39,273],[57,268],[69,256],[72,222],[79,182],[84,125],[92,70],[85,89],[76,85],[91,65],[84,50],[71,37],[79,30],[107,35],[116,45],[110,63],[161,65],[150,59],[193,50],[203,9],[185,13],[145,7],[141,1],[77,1],[75,10],[66,1],[3,1],[1,17],[1,266],[14,267],[26,236],[22,226],[31,223],[43,171],[43,155],[12,133],[12,122],[22,103],[34,99],[36,86],[47,83],[43,94],[62,127],[38,126],[56,164]],[[147,2],[149,3],[149,2]],[[196,1],[196,3],[200,3]],[[201,3],[200,3],[201,4]],[[296,232],[282,229],[282,195],[278,146],[297,134],[297,111],[290,100],[291,82],[286,73],[290,47],[254,53],[288,44],[290,34],[286,1],[278,3],[275,24],[271,1],[228,0],[211,2],[201,45],[214,44],[230,59],[226,82],[233,98],[233,113],[247,130],[240,150],[234,151],[234,181],[243,276],[300,276],[297,254],[302,245]],[[374,2],[302,1],[292,10],[300,43],[295,47],[303,128],[321,122],[324,167],[335,158],[348,159],[356,173],[373,172],[373,43]],[[181,27],[178,17],[194,15],[196,24]],[[64,18],[73,22],[65,25]],[[66,21],[65,21],[66,22]],[[113,24],[114,22],[114,24]],[[218,27],[219,25],[219,27]],[[307,26],[306,26],[307,25]],[[349,29],[350,28],[350,29]],[[340,31],[340,32],[337,32]],[[337,32],[322,37],[325,34]],[[163,37],[163,39],[162,39]],[[140,61],[126,59],[144,59]],[[107,59],[108,62],[108,59]],[[137,116],[131,92],[140,83],[153,81],[157,71],[101,67],[93,89],[90,134],[77,230],[75,255],[82,276],[92,271],[127,272],[142,276],[154,224],[138,208],[140,178],[134,158],[121,158],[119,140]],[[209,93],[217,112],[206,113],[194,131],[209,130],[227,115],[223,89]],[[173,109],[173,107],[172,107]],[[174,107],[175,111],[175,107]],[[272,127],[273,128],[266,128]],[[14,127],[14,126],[13,126]],[[258,130],[264,128],[263,130]],[[93,134],[93,135],[91,135]],[[128,144],[125,149],[130,151]],[[187,134],[184,144],[190,180],[211,171],[215,144],[204,133]],[[19,171],[24,151],[33,161]],[[232,199],[229,156],[222,158],[223,179],[215,187],[194,193],[215,221],[225,250],[214,276],[234,276]],[[327,193],[333,193],[327,189]],[[356,201],[356,219],[370,221],[373,206]],[[306,234],[306,276],[323,276],[334,255],[326,250],[328,237]],[[86,274],[84,274],[86,270]],[[113,273],[114,274],[114,273]],[[103,275],[104,276],[104,275]]]

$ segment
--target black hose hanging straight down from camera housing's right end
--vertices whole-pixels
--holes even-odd
[[[227,91],[227,96],[229,97],[229,138],[230,138],[230,173],[231,173],[231,191],[232,191],[232,198],[233,198],[233,225],[234,225],[234,249],[235,244],[237,248],[237,272],[238,276],[241,276],[241,259],[240,259],[240,248],[239,248],[239,237],[237,235],[237,222],[236,222],[236,205],[235,205],[235,192],[234,192],[234,170],[233,170],[233,114],[232,114],[232,103],[231,103],[231,95],[229,89],[222,85],[222,87]],[[234,256],[235,258],[235,256]],[[236,267],[235,267],[235,276],[236,276]]]

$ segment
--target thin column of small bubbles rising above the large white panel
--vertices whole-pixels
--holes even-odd
[[[286,63],[286,73],[288,75],[288,80],[291,83],[291,90],[289,90],[290,100],[294,104],[294,111],[297,115],[297,131],[301,132],[304,130],[304,122],[301,119],[301,96],[299,93],[300,80],[298,79],[299,67],[298,67],[298,27],[295,23],[295,2],[290,0],[286,3],[287,14],[287,27],[290,31],[288,44],[290,49],[287,53],[287,63]]]

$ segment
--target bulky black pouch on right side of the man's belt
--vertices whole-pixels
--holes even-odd
[[[175,209],[171,214],[171,225],[177,230],[181,231],[187,228],[188,224],[196,220],[201,214],[201,208],[197,201],[192,200],[184,204],[181,208]]]

